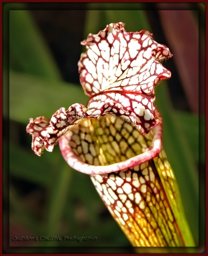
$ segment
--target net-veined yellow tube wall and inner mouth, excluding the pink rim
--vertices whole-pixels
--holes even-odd
[[[140,154],[151,139],[152,131],[143,136],[121,118],[101,117],[78,125],[69,144],[84,163],[104,166]],[[149,162],[112,174],[93,175],[91,180],[134,246],[184,246],[171,210],[172,205],[179,210],[179,195],[163,150]]]

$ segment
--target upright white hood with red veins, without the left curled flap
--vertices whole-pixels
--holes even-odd
[[[146,30],[126,32],[124,23],[111,23],[82,42],[87,51],[78,62],[80,83],[90,96],[91,117],[120,115],[134,122],[142,134],[159,122],[155,115],[155,85],[171,77],[160,63],[171,57]]]

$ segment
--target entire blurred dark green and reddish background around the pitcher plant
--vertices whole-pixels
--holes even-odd
[[[20,10],[22,13],[18,13]],[[7,117],[10,118],[9,130],[4,130],[3,206],[5,224],[9,224],[9,233],[8,226],[4,227],[7,234],[4,236],[5,251],[133,252],[129,241],[97,195],[90,177],[71,170],[62,159],[58,146],[52,154],[45,152],[38,158],[31,150],[31,137],[26,134],[29,117],[50,117],[61,106],[68,108],[75,102],[86,104],[87,97],[82,95],[77,66],[80,53],[85,51],[80,42],[90,32],[97,34],[106,24],[120,21],[126,23],[126,31],[149,30],[156,42],[167,45],[173,53],[173,57],[163,63],[172,72],[172,77],[158,87],[164,86],[166,89],[165,94],[158,89],[158,98],[165,95],[170,106],[163,107],[165,100],[160,100],[158,108],[170,108],[171,117],[168,118],[174,117],[172,122],[179,129],[174,129],[173,135],[165,133],[165,122],[168,121],[165,121],[164,113],[164,147],[173,170],[176,172],[177,162],[188,162],[186,165],[181,163],[184,166],[176,172],[176,177],[190,228],[198,244],[201,237],[198,237],[198,225],[194,222],[198,222],[198,214],[203,221],[203,208],[199,207],[199,213],[196,214],[192,210],[198,209],[197,179],[201,180],[205,167],[202,144],[205,131],[205,7],[189,3],[29,3],[5,5],[4,11],[5,26],[10,24],[9,35],[6,32],[4,34],[4,45],[8,51],[3,56],[4,71],[10,72],[10,89],[5,87],[4,90],[5,95],[9,95],[9,111],[5,103],[3,116],[5,124]],[[36,95],[38,97],[34,98]],[[45,108],[41,108],[42,105]],[[6,146],[8,138],[9,149]],[[174,146],[172,141],[179,141],[179,144]],[[185,156],[184,161],[178,160],[173,153],[179,147]],[[187,166],[191,166],[192,170],[186,170],[189,169]],[[182,175],[185,172],[183,177],[180,176],[181,171]],[[202,200],[203,189],[202,184],[199,191]],[[98,238],[96,242],[12,241],[14,236],[67,235]],[[116,247],[112,249],[111,246]]]

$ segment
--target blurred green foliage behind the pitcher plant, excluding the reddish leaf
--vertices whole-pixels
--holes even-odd
[[[25,9],[23,5],[20,5],[19,9],[21,6]],[[10,7],[7,6],[8,9]],[[15,7],[18,9],[18,5]],[[83,39],[90,32],[96,34],[111,22],[126,23],[126,31],[142,29],[151,31],[146,13],[142,10],[143,4],[120,4],[120,10],[113,10],[116,7],[115,3],[106,3],[103,6],[98,3],[89,3],[86,21],[83,24]],[[115,252],[132,252],[129,241],[109,216],[90,177],[67,166],[58,146],[53,154],[44,152],[43,156],[38,158],[30,148],[31,136],[22,135],[20,132],[26,128],[30,117],[35,118],[39,115],[51,117],[61,106],[67,109],[75,102],[86,104],[87,97],[83,93],[82,86],[70,84],[61,78],[60,69],[30,11],[10,10],[9,26],[9,90],[6,87],[6,79],[3,89],[4,95],[9,94],[10,101],[8,177],[10,235],[14,234],[11,231],[12,224],[15,223],[19,227],[19,233],[16,234],[21,234],[23,227],[28,236],[98,237],[96,242],[91,240],[62,241],[61,243],[58,241],[34,242],[31,244],[31,249],[20,247],[15,251],[56,253],[62,249],[63,252],[70,253],[81,252],[80,247],[87,246],[89,249],[84,249],[84,252],[89,253],[99,251],[99,248],[96,249],[99,246],[120,247],[122,245],[124,248],[120,247]],[[79,43],[75,42],[75,44]],[[200,163],[203,166],[205,163],[203,145],[200,151],[201,158],[198,151],[199,117],[193,113],[173,109],[167,82],[162,82],[157,88],[156,106],[164,120],[164,148],[179,183],[190,229],[195,241],[198,242],[197,164]],[[3,117],[6,120],[6,104],[3,105],[3,110]],[[203,117],[201,122],[200,135],[203,142],[205,134]],[[6,141],[4,145],[6,148]],[[35,185],[37,189],[22,195],[21,184],[23,187],[26,184]],[[202,220],[203,217],[201,216]],[[12,245],[15,244],[12,243]],[[39,246],[42,247],[39,249]],[[12,249],[7,250],[12,252]],[[114,252],[113,249],[101,251]]]

